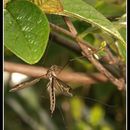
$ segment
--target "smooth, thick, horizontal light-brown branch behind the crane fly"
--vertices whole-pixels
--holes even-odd
[[[4,71],[8,71],[11,73],[18,72],[18,73],[26,74],[31,77],[39,77],[41,75],[46,74],[47,68],[24,65],[24,64],[16,64],[16,63],[5,61]],[[98,82],[108,81],[108,79],[101,73],[94,73],[91,75],[87,75],[84,73],[76,73],[76,72],[70,72],[65,70],[58,75],[58,78],[60,78],[65,82],[82,84],[82,85],[90,85]]]

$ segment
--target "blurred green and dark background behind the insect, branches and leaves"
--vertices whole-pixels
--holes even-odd
[[[118,25],[119,18],[126,12],[124,0],[84,0],[94,6],[99,12]],[[60,16],[48,15],[51,23],[66,28]],[[91,25],[72,19],[79,33]],[[117,26],[118,28],[118,26]],[[125,28],[118,28],[125,38]],[[99,47],[102,32],[88,34],[85,39],[93,46]],[[46,54],[35,66],[50,67],[58,65],[65,70],[93,74],[98,72],[95,67],[84,58],[73,59],[81,56],[61,45],[53,35],[50,35]],[[4,60],[21,63],[19,58],[7,48],[4,49]],[[27,80],[30,77],[4,72],[4,129],[5,130],[125,130],[126,129],[126,94],[118,91],[110,83],[98,82],[94,84],[72,84],[73,97],[64,95],[56,96],[56,110],[50,114],[50,100],[47,92],[48,80],[41,80],[34,87],[26,88],[18,92],[10,93],[9,90],[15,84]]]

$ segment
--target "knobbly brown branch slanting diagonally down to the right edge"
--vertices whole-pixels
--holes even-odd
[[[68,26],[70,32],[76,37],[77,36],[77,31],[75,29],[75,27],[73,26],[72,22],[67,18],[64,17],[65,23]],[[108,77],[108,79],[117,86],[117,88],[119,90],[123,90],[125,88],[125,81],[123,78],[121,79],[117,79],[116,77],[114,77],[106,68],[104,68],[104,66],[102,64],[100,64],[100,62],[98,60],[96,60],[93,57],[93,51],[86,46],[86,44],[83,44],[81,41],[81,39],[79,39],[78,37],[75,38],[75,40],[77,41],[78,45],[80,46],[80,48],[82,49],[82,54],[101,72],[103,73],[106,77]]]

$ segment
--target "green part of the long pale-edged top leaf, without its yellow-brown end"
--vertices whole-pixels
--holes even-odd
[[[109,34],[112,34],[115,38],[122,41],[123,46],[126,46],[124,39],[121,37],[120,33],[116,30],[113,24],[95,8],[82,0],[63,0],[61,2],[64,8],[63,15],[75,17],[91,23]]]

